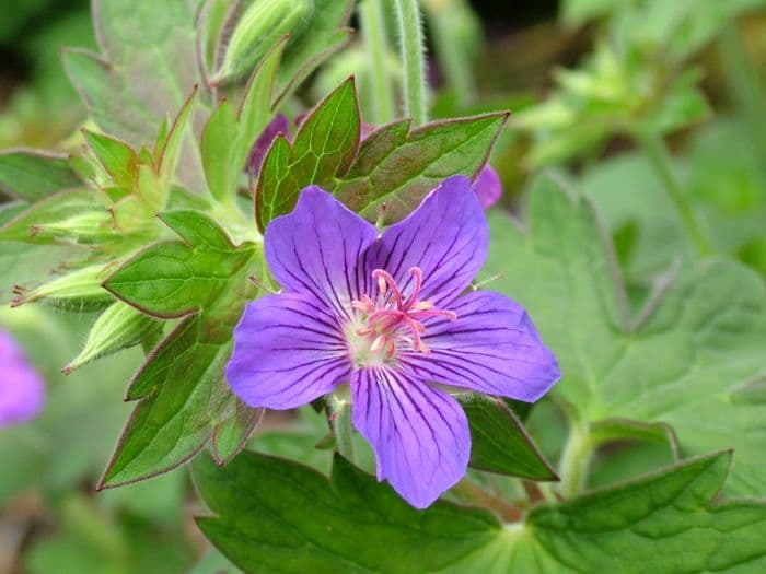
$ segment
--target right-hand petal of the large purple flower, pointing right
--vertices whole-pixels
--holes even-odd
[[[402,368],[417,378],[534,402],[560,378],[524,308],[499,293],[477,291],[450,308],[457,320],[430,319],[430,354],[405,352]]]

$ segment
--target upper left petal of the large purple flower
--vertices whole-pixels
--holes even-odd
[[[374,225],[311,186],[292,213],[266,229],[266,261],[285,291],[312,295],[350,317],[351,300],[369,291],[371,279],[359,260],[376,236]]]

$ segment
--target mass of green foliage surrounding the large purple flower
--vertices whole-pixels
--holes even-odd
[[[22,4],[9,7],[33,12]],[[510,119],[469,107],[484,48],[466,2],[423,3],[457,104],[426,85],[419,31],[397,36],[393,7],[363,0],[356,42],[353,4],[94,0],[95,43],[72,32],[80,12],[30,40],[38,95],[24,113],[23,92],[10,99],[3,142],[19,138],[14,121],[48,117],[38,112],[51,97],[66,110],[49,140],[71,129],[60,73],[37,74],[53,66],[53,38],[89,46],[62,56],[88,112],[65,151],[0,153],[0,325],[48,384],[42,417],[0,434],[0,502],[45,506],[19,527],[35,532],[23,566],[765,569],[766,83],[736,32],[763,1],[567,0],[560,21],[589,23],[592,50]],[[14,25],[0,35],[20,34]],[[699,56],[718,43],[723,70]],[[429,90],[443,119],[426,120]],[[278,113],[292,133],[246,172]],[[320,399],[265,413],[233,395],[224,367],[246,303],[280,289],[264,232],[303,188],[382,230],[490,156],[529,185],[487,213],[476,289],[529,311],[564,377],[535,405],[451,389],[471,469],[416,511],[371,476],[348,412]],[[196,565],[186,462],[214,547]]]

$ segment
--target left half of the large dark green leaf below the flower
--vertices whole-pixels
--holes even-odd
[[[339,456],[330,481],[248,452],[222,470],[199,457],[194,478],[217,515],[199,528],[247,573],[433,572],[481,548],[497,525],[450,504],[418,512]]]

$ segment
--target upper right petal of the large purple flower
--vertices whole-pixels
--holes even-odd
[[[445,179],[407,219],[388,227],[370,261],[388,271],[406,294],[409,269],[423,272],[421,300],[443,306],[474,279],[487,258],[489,231],[471,181]]]

